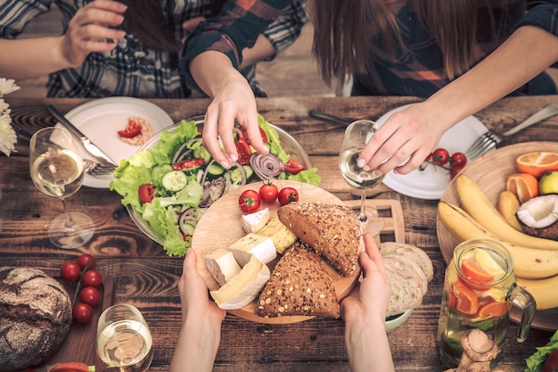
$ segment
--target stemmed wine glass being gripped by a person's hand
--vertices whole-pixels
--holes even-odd
[[[358,155],[365,148],[376,131],[376,123],[372,120],[357,120],[345,129],[341,145],[339,167],[341,175],[350,186],[360,189],[360,220],[363,233],[378,236],[383,228],[383,219],[378,219],[377,211],[366,208],[366,193],[373,186],[382,183],[384,174],[377,169],[365,169],[357,166]]]

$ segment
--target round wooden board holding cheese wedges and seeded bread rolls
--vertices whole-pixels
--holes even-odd
[[[275,186],[281,190],[283,187],[294,187],[299,192],[299,202],[318,202],[318,203],[332,203],[343,205],[343,202],[335,195],[330,194],[324,189],[308,184],[276,180]],[[206,267],[205,256],[218,248],[227,249],[229,245],[236,242],[246,233],[242,229],[242,214],[238,206],[238,198],[242,191],[252,189],[258,191],[260,184],[250,184],[242,186],[228,194],[223,195],[217,202],[213,203],[208,211],[201,217],[195,227],[192,239],[192,248],[198,254],[198,270],[201,277],[205,280],[210,290],[217,290],[219,285],[211,276],[211,273]],[[271,212],[271,217],[277,215],[277,210],[280,205],[277,201],[275,203],[262,203],[260,210],[268,207]],[[268,264],[270,270],[273,271],[275,263],[279,260],[280,255]],[[335,292],[337,293],[338,300],[347,296],[350,291],[357,285],[357,279],[360,275],[360,268],[357,268],[350,277],[342,277],[331,266],[325,263],[327,274],[332,277]],[[257,299],[256,299],[257,301]],[[258,323],[269,324],[286,324],[295,323],[307,320],[308,316],[291,316],[291,317],[278,317],[278,318],[262,318],[257,314],[257,302],[250,302],[239,310],[228,310],[230,313],[247,320],[255,321]]]

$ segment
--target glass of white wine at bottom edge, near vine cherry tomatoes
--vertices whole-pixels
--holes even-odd
[[[103,311],[97,323],[97,359],[106,372],[145,372],[152,364],[152,334],[132,305]]]

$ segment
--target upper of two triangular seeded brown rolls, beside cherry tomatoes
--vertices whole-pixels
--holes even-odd
[[[357,269],[361,230],[357,214],[344,205],[289,203],[277,215],[283,225],[310,245],[333,269],[349,276]]]

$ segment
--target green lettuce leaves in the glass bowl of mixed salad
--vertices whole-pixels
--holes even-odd
[[[288,161],[290,155],[283,150],[275,128],[271,127],[261,115],[258,119],[260,128],[266,133],[270,153],[275,154],[283,162]],[[209,181],[202,181],[199,172],[185,171],[187,183],[184,188],[176,192],[169,191],[162,184],[163,176],[173,170],[172,159],[176,151],[197,136],[200,136],[200,132],[195,121],[182,120],[174,130],[161,131],[156,145],[119,162],[119,167],[114,171],[116,179],[111,180],[109,186],[111,191],[116,191],[122,196],[122,204],[130,206],[144,219],[155,235],[164,239],[163,248],[169,256],[184,256],[186,249],[192,244],[192,236],[183,234],[180,229],[178,219],[181,213],[188,210],[189,216],[193,216],[197,221],[207,209],[207,207],[200,207],[204,198],[204,186],[207,186],[201,185],[201,182],[206,184]],[[193,150],[193,156],[209,156],[201,146],[201,141],[189,142],[187,147]],[[317,186],[321,178],[316,174],[316,170],[314,167],[303,170],[297,175],[284,174],[283,176]],[[226,191],[241,186],[231,183],[230,175],[226,174],[226,177]],[[144,184],[155,187],[155,197],[151,203],[142,203],[140,200],[138,189]]]

